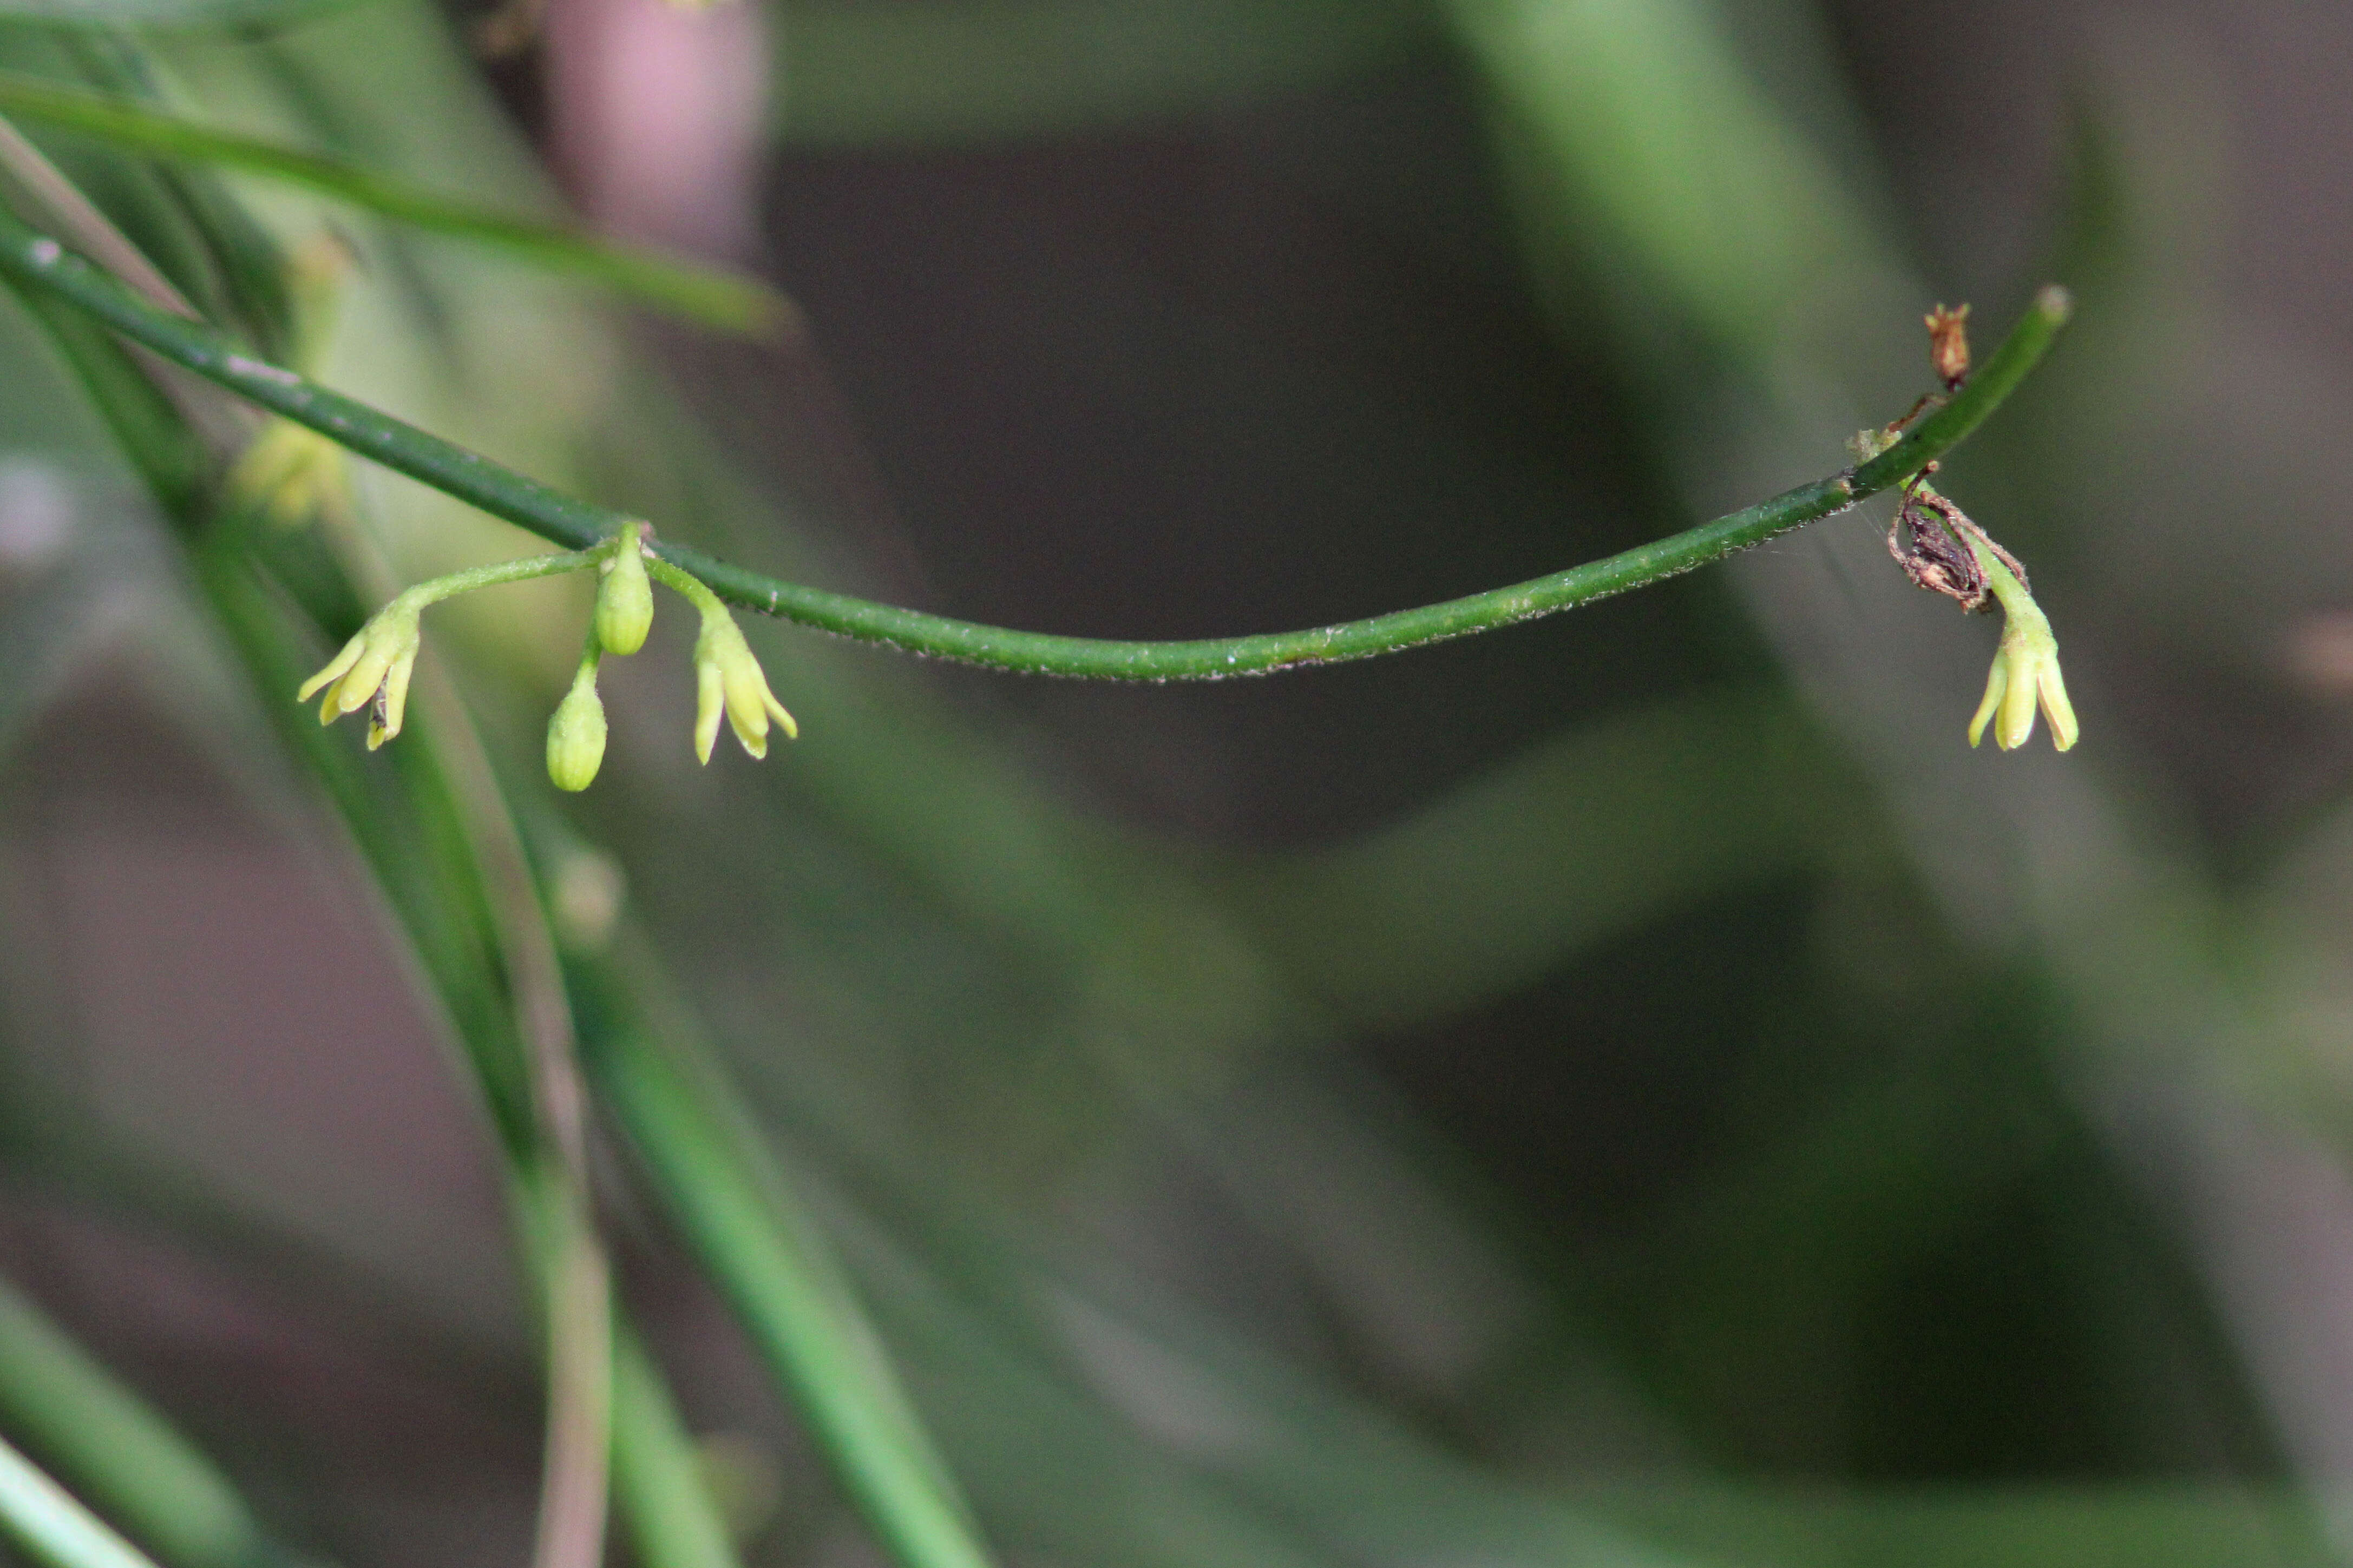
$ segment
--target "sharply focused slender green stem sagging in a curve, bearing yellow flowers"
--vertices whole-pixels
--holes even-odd
[[[26,228],[7,214],[0,214],[0,273],[7,273],[28,289],[87,310],[134,343],[240,397],[311,425],[386,468],[405,473],[459,501],[468,501],[558,545],[574,550],[598,545],[626,522],[621,512],[565,496],[539,480],[501,468],[438,435],[426,435],[367,404],[304,381],[289,369],[249,360],[221,334],[155,310],[111,275],[66,252],[56,240]],[[1221,679],[1292,665],[1372,658],[1377,654],[1395,654],[1428,642],[1534,621],[1537,616],[1642,588],[1680,571],[1706,567],[1737,550],[1760,545],[1777,534],[1842,512],[1864,496],[1901,484],[1925,463],[1951,451],[2009,397],[2042,360],[2045,350],[2049,350],[2052,339],[2066,327],[2071,310],[2073,303],[2066,289],[2042,289],[2019,324],[2009,329],[2002,346],[1993,350],[1986,364],[1951,402],[1859,468],[1800,484],[1772,501],[1760,501],[1715,522],[1704,522],[1697,529],[1685,529],[1682,534],[1635,545],[1633,550],[1584,567],[1569,567],[1567,571],[1513,583],[1511,588],[1492,588],[1461,599],[1299,632],[1202,642],[1054,637],[1047,632],[951,621],[896,604],[875,604],[873,599],[826,592],[824,588],[784,583],[678,545],[656,545],[656,552],[704,581],[729,604],[911,654],[958,658],[1024,675],[1136,682]]]

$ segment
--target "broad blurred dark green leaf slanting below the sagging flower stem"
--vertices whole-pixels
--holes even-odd
[[[1398,1030],[1817,863],[1866,813],[1786,698],[1734,686],[1586,724],[1412,818],[1221,886],[1294,985]]]

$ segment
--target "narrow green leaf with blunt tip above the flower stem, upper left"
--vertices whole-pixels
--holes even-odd
[[[414,228],[489,244],[725,331],[772,339],[800,322],[788,299],[753,277],[475,207],[339,158],[195,125],[129,99],[0,71],[0,113],[153,158],[287,181]]]

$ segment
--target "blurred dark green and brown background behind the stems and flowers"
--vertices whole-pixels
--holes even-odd
[[[1539,576],[1838,470],[1929,386],[1927,306],[1984,350],[2078,294],[1944,475],[2033,567],[2066,757],[1969,752],[1995,628],[1908,590],[1885,501],[1268,679],[765,630],[805,733],[760,769],[685,764],[668,621],[607,677],[581,875],[1009,1556],[2341,1554],[2353,16],[553,0],[487,66],[468,21],[162,54],[421,179],[536,148],[807,336],[386,249],[327,378],[974,621]],[[0,1267],[306,1547],[513,1561],[532,1333],[440,1023],[82,423],[0,397]],[[494,538],[367,494],[402,576]],[[442,614],[527,776],[576,604]],[[873,1561],[621,1190],[753,1559]]]

